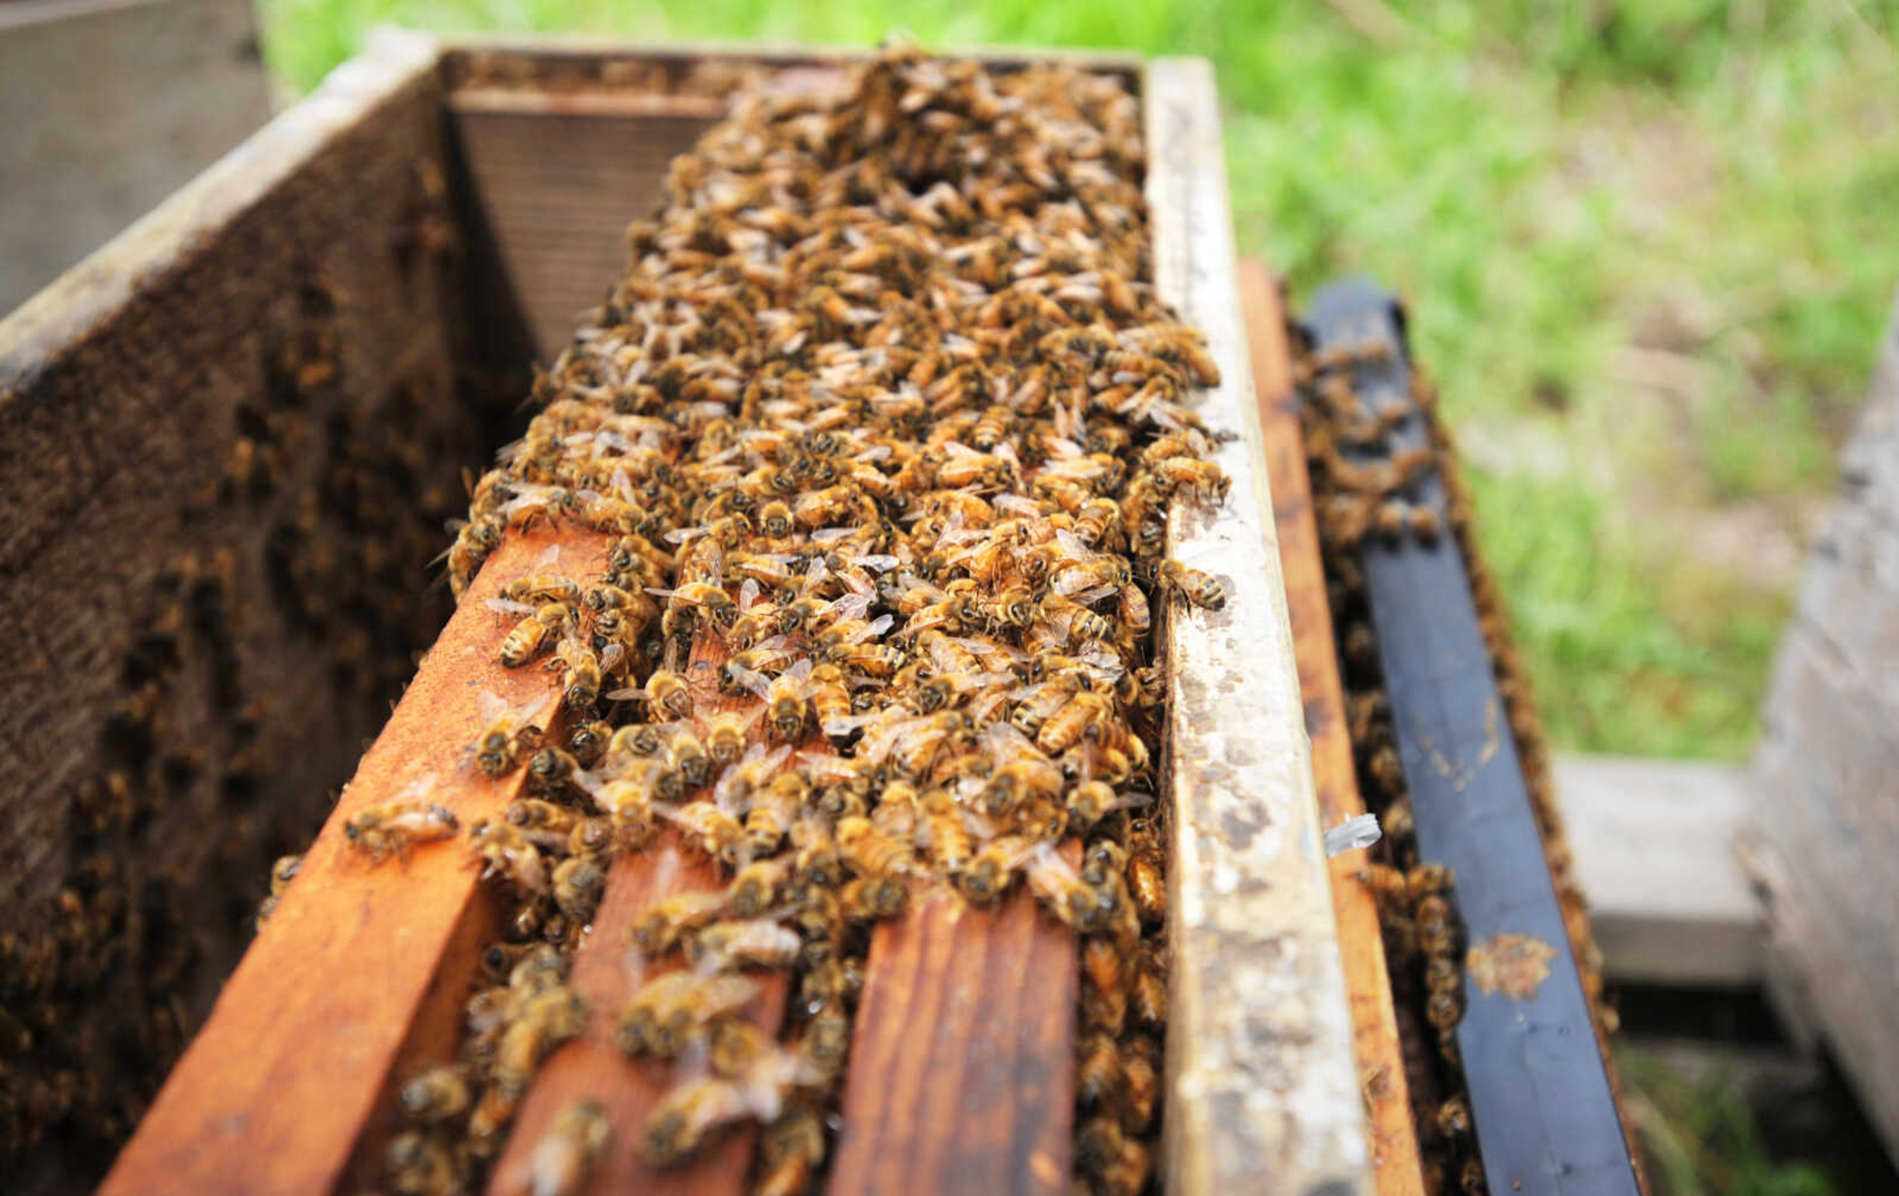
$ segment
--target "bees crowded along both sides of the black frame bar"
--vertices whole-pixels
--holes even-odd
[[[1367,869],[1367,881],[1379,900],[1407,1082],[1426,1156],[1426,1181],[1430,1190],[1483,1192],[1483,1166],[1476,1150],[1455,1037],[1464,1016],[1468,944],[1455,906],[1455,877],[1441,864],[1419,860],[1377,632],[1365,606],[1358,564],[1358,547],[1367,535],[1382,539],[1413,535],[1434,543],[1447,524],[1460,547],[1498,691],[1536,805],[1578,972],[1595,1006],[1601,1033],[1614,1029],[1614,1012],[1601,1004],[1601,953],[1589,938],[1582,896],[1551,799],[1548,754],[1506,632],[1502,598],[1472,541],[1470,499],[1455,469],[1457,458],[1449,435],[1434,418],[1436,391],[1420,370],[1413,370],[1411,401],[1371,412],[1352,389],[1352,364],[1384,361],[1386,353],[1388,349],[1375,342],[1341,346],[1326,353],[1303,351],[1297,361],[1301,421],[1318,509],[1327,596],[1339,628],[1346,716],[1360,788],[1384,828],[1384,839],[1375,849],[1381,862]],[[1392,454],[1386,437],[1411,414],[1424,416],[1430,446]],[[1443,522],[1432,511],[1415,505],[1413,486],[1426,475],[1436,477],[1445,488]]]

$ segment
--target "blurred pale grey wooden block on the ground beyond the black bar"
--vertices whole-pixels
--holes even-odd
[[[1610,980],[1758,983],[1766,921],[1734,850],[1749,805],[1743,769],[1557,756],[1553,773]]]

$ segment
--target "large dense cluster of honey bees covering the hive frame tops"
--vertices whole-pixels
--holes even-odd
[[[913,885],[1024,885],[1079,936],[1077,1179],[1151,1171],[1166,966],[1153,598],[1219,607],[1164,556],[1172,501],[1219,503],[1217,382],[1149,279],[1139,108],[1067,66],[898,49],[830,89],[743,97],[670,171],[630,266],[475,488],[463,592],[511,528],[611,537],[494,600],[503,664],[558,672],[558,735],[490,710],[524,771],[467,828],[515,898],[460,1057],[403,1103],[397,1190],[471,1183],[534,1065],[587,1016],[678,1084],[655,1164],[765,1122],[756,1187],[826,1152],[868,926]],[[359,847],[452,833],[425,797]],[[648,981],[575,1008],[568,951],[617,852],[659,835],[725,869],[632,926]],[[684,966],[674,968],[674,961]],[[786,1042],[739,1014],[794,970]]]

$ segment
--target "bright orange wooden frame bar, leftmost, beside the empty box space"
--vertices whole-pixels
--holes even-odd
[[[370,866],[344,824],[429,773],[433,799],[463,826],[501,814],[518,778],[465,767],[477,699],[551,697],[556,674],[501,668],[511,621],[484,600],[551,543],[509,535],[482,568],[101,1192],[330,1192],[365,1179],[351,1160],[384,1126],[397,1073],[452,1050],[492,911],[463,843]],[[604,539],[562,543],[562,571],[604,570]]]

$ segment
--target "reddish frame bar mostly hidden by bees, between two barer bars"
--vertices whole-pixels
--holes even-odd
[[[716,634],[703,634],[693,645],[691,668],[686,672],[693,693],[693,714],[722,714],[756,706],[752,695],[724,695],[718,687],[720,666],[725,663],[725,644]],[[754,735],[758,727],[754,727]],[[674,1086],[672,1065],[644,1059],[634,1063],[613,1046],[613,1023],[619,1010],[636,991],[629,970],[627,932],[653,902],[682,892],[708,892],[727,881],[725,868],[680,843],[674,832],[642,852],[621,856],[608,875],[600,909],[594,913],[587,942],[573,961],[572,983],[587,999],[592,1019],[587,1033],[562,1046],[534,1078],[528,1097],[515,1116],[507,1149],[496,1164],[490,1183],[492,1196],[513,1196],[528,1190],[528,1160],[541,1133],[562,1109],[575,1101],[598,1101],[613,1126],[606,1154],[594,1168],[592,1192],[739,1192],[752,1164],[752,1145],[758,1137],[750,1126],[724,1135],[716,1145],[695,1152],[676,1168],[653,1168],[640,1158],[640,1135],[653,1107]],[[653,962],[644,976],[659,976],[676,968],[676,961]],[[760,995],[746,1016],[760,1027],[777,1031],[784,1019],[784,1000],[790,989],[784,974],[760,976]]]

